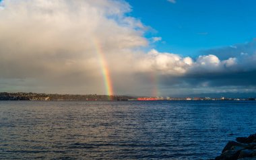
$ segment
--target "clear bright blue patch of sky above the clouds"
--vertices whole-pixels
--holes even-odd
[[[195,56],[199,50],[220,48],[253,40],[256,35],[256,5],[253,0],[127,0],[137,17],[160,36],[154,44],[162,52]]]

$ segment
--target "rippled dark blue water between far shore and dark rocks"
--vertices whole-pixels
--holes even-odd
[[[212,159],[256,102],[0,102],[0,159]]]

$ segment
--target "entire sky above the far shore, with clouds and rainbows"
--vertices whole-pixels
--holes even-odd
[[[0,91],[256,93],[253,0],[0,1]]]

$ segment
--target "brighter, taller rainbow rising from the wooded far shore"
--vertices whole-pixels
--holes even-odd
[[[98,40],[94,40],[94,44],[96,46],[96,53],[100,60],[100,67],[101,67],[102,77],[104,79],[106,95],[109,95],[109,100],[112,100],[113,96],[111,95],[114,95],[114,92],[113,92],[113,85],[110,77],[110,71],[108,69],[108,65],[106,62],[106,58],[104,56],[104,52],[102,50],[102,46],[100,45],[100,42],[98,42]]]

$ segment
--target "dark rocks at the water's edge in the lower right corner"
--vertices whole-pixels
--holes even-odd
[[[236,141],[229,141],[224,147],[222,154],[216,160],[256,160],[256,134],[248,137],[238,137]]]

